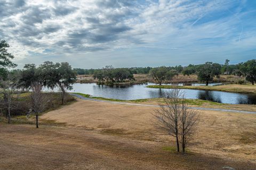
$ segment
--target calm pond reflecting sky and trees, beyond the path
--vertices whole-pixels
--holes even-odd
[[[154,85],[154,83],[119,87],[99,86],[96,83],[75,83],[73,85],[73,90],[69,90],[69,92],[80,92],[82,94],[89,94],[95,97],[135,100],[163,97],[165,92],[170,90],[146,88],[148,85]],[[194,86],[195,85],[196,84],[194,84]],[[256,104],[256,95],[254,94],[236,94],[233,92],[191,89],[183,89],[183,92],[185,92],[185,98],[188,99],[210,100],[227,104]]]

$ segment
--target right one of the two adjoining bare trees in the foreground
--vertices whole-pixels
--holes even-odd
[[[182,100],[179,114],[179,138],[182,147],[182,153],[185,153],[185,148],[193,139],[199,122],[199,115],[195,109],[190,109]]]

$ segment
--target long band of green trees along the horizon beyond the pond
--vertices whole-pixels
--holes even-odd
[[[89,70],[74,69],[74,71],[79,75]],[[125,80],[134,80],[133,74],[148,74],[149,79],[155,80],[159,85],[162,85],[163,82],[171,81],[174,76],[179,74],[188,76],[196,74],[198,81],[204,82],[206,86],[213,81],[214,77],[220,78],[221,74],[245,77],[247,81],[254,84],[256,82],[256,60],[249,60],[238,64],[229,64],[229,60],[226,60],[225,64],[206,62],[198,65],[189,64],[184,67],[178,65],[115,69],[113,66],[106,66],[102,69],[90,69],[90,74],[93,74],[93,78],[98,80],[98,84],[108,85],[124,82]]]

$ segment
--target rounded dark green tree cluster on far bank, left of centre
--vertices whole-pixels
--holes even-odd
[[[93,78],[97,79],[99,84],[113,84],[124,82],[125,80],[134,80],[133,74],[129,69],[114,69],[113,66],[106,66],[103,69],[94,71]]]

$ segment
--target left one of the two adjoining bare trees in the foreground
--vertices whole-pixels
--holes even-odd
[[[179,147],[179,114],[180,103],[183,99],[183,92],[181,89],[175,88],[166,93],[164,104],[159,104],[160,109],[155,111],[156,122],[154,123],[158,128],[172,135],[176,139],[177,151]]]

